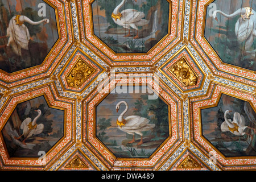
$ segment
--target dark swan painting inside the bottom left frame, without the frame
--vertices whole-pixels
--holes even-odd
[[[18,104],[2,136],[10,157],[38,157],[64,136],[64,111],[48,106],[44,96]]]

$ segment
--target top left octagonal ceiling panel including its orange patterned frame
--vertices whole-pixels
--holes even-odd
[[[20,31],[26,30],[26,36],[24,36],[22,33],[20,33],[22,36],[19,36],[19,44],[23,47],[21,48],[21,52],[25,52],[24,55],[18,56],[19,59],[15,58],[15,60],[13,60],[13,58],[11,58],[1,61],[1,85],[11,88],[13,86],[22,85],[26,82],[49,76],[51,71],[56,67],[61,57],[71,45],[72,31],[70,24],[71,22],[69,21],[70,17],[68,5],[64,5],[60,1],[19,0],[14,2],[9,0],[5,1],[4,4],[6,5],[6,3],[7,5],[10,5],[13,11],[10,11],[9,7],[7,7],[8,11],[5,12],[7,13],[7,16],[1,20],[2,25],[5,26],[5,22],[8,22],[8,24],[10,22],[14,22],[14,26],[19,27],[19,33]],[[1,6],[3,11],[6,9],[4,4],[2,3],[3,6]],[[31,22],[27,18],[22,24],[23,20],[20,19],[24,18],[23,15],[26,15],[31,20],[34,20],[34,22],[39,20],[39,24]],[[19,23],[22,25],[19,26],[16,24],[16,20],[10,20],[9,22],[11,17],[16,17],[16,20],[20,20]],[[44,19],[43,23],[40,22],[42,19]],[[27,23],[26,21],[30,23]],[[3,35],[1,39],[2,56],[6,57],[6,53],[4,52],[6,52],[7,49],[12,51],[12,53],[9,54],[10,56],[14,55],[15,53],[13,48],[16,49],[15,46],[7,46],[10,38],[10,36],[6,37],[7,30],[4,30],[3,27],[1,30],[1,34]],[[30,36],[28,36],[28,33]],[[12,35],[12,37],[13,36],[14,35]],[[26,39],[28,46],[26,46],[26,44],[21,44],[21,42],[24,42]],[[18,41],[18,39],[16,41]],[[17,49],[18,48],[19,47],[17,47]]]

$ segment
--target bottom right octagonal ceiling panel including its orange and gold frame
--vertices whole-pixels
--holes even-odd
[[[255,106],[255,96],[250,93],[210,86],[207,97],[191,100],[193,144],[204,146],[205,154],[224,169],[255,163]]]

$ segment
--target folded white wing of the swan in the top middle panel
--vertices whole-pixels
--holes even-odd
[[[124,23],[135,23],[141,21],[145,17],[145,14],[141,11],[134,9],[126,9],[121,12],[123,18],[125,19]]]

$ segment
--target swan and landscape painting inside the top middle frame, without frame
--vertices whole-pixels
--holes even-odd
[[[94,35],[116,53],[145,53],[168,34],[166,0],[96,0]]]

